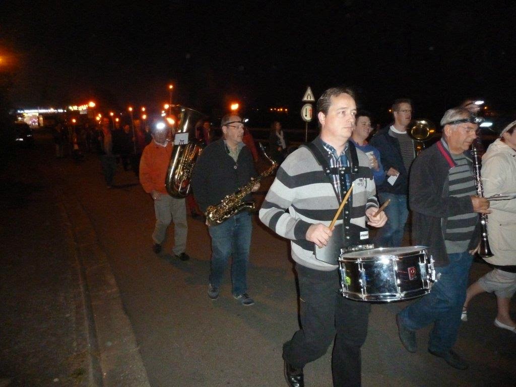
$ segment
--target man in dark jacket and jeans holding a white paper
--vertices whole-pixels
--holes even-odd
[[[414,143],[407,133],[412,119],[412,102],[399,99],[392,105],[394,123],[380,130],[370,144],[380,151],[387,179],[376,187],[380,203],[391,199],[385,208],[387,223],[378,230],[376,247],[399,247],[405,222],[409,216],[407,205],[409,168],[414,160]]]

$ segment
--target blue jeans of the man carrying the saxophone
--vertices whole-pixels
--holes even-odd
[[[252,231],[251,215],[247,211],[240,212],[221,224],[210,226],[208,231],[212,237],[212,270],[209,273],[209,283],[220,287],[231,256],[232,293],[234,296],[246,293]]]

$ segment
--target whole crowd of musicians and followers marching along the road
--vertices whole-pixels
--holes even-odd
[[[392,122],[371,137],[373,117],[357,110],[353,91],[330,88],[317,102],[319,135],[293,152],[288,151],[281,123],[272,123],[268,154],[280,166],[259,219],[274,233],[291,240],[300,327],[283,344],[289,386],[304,385],[304,366],[320,358],[331,343],[334,385],[361,385],[361,347],[366,340],[370,303],[335,292],[336,284],[344,280],[338,256],[328,257],[321,251],[335,243],[340,251],[357,246],[399,248],[410,212],[411,243],[426,247],[437,280],[429,292],[396,315],[401,344],[409,352],[417,351],[417,331],[432,325],[429,353],[456,369],[467,369],[467,361],[454,345],[461,320],[471,316],[470,300],[482,292],[496,295],[494,325],[516,333],[516,322],[509,313],[510,299],[516,292],[516,121],[501,128],[500,137],[485,152],[480,178],[469,151],[478,137],[476,108],[466,101],[446,110],[440,122],[442,137],[422,152],[416,150],[408,131],[413,103],[406,98],[394,101]],[[251,192],[260,187],[260,182],[252,184],[258,155],[243,119],[235,114],[224,116],[221,131],[222,137],[215,140],[209,121],[195,128],[195,137],[206,147],[191,176],[193,196],[188,196],[188,207],[192,216],[206,216],[223,198],[249,183],[252,189],[240,199],[252,200]],[[112,184],[117,141],[124,168],[132,164],[127,162],[130,155],[140,150],[137,173],[152,197],[156,216],[152,249],[156,254],[162,251],[167,228],[173,222],[173,256],[188,260],[187,200],[170,196],[164,183],[171,154],[179,143],[174,143],[166,125],[152,126],[145,146],[136,142],[128,127],[120,137],[113,133],[109,119],[103,119],[101,131],[93,136],[98,138],[106,184]],[[58,142],[56,156],[62,156]],[[482,183],[483,196],[478,190]],[[386,202],[389,205],[379,209]],[[489,214],[490,218],[493,256],[486,261],[492,271],[468,288],[473,255],[480,243],[479,214]],[[233,297],[243,305],[254,304],[247,287],[251,219],[246,211],[229,214],[220,223],[206,218],[212,241],[206,281],[210,300],[218,299],[231,260]],[[373,229],[377,229],[374,237],[369,235]]]

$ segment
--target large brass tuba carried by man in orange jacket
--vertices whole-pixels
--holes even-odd
[[[165,186],[171,196],[185,198],[190,192],[193,166],[202,152],[201,142],[195,136],[195,126],[206,116],[197,110],[181,105],[173,105],[170,110],[177,123]]]

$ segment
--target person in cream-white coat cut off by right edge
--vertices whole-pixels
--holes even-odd
[[[483,155],[481,175],[485,197],[516,193],[516,121],[503,129]],[[509,314],[516,292],[516,199],[490,204],[488,235],[493,256],[485,260],[493,270],[467,289],[462,320],[467,320],[467,305],[473,297],[494,292],[498,309],[494,325],[516,333],[516,322]]]

